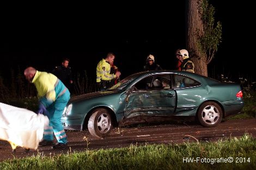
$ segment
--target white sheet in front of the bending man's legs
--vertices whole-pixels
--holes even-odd
[[[0,103],[0,139],[13,142],[17,146],[38,148],[44,134],[44,126],[49,119],[42,114]]]

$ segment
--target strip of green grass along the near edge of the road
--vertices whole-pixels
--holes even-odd
[[[0,162],[0,169],[256,169],[249,134],[218,142],[131,145]]]

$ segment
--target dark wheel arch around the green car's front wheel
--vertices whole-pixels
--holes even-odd
[[[117,117],[115,116],[114,111],[111,108],[108,108],[107,106],[97,106],[91,109],[86,115],[86,117],[84,117],[82,130],[88,129],[88,121],[90,119],[90,116],[92,116],[92,114],[99,109],[106,109],[107,111],[109,111],[109,113],[111,114],[111,119],[113,120],[113,127],[118,126]]]

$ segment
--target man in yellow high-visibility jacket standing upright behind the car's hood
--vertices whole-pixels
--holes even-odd
[[[111,64],[113,64],[115,55],[108,53],[105,59],[100,60],[96,67],[96,83],[100,91],[109,88],[109,81],[118,79],[121,73],[117,71],[115,74],[110,74]]]

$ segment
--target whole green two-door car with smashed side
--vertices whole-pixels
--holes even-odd
[[[239,84],[184,71],[149,71],[132,74],[106,91],[71,98],[61,121],[64,129],[88,128],[93,136],[104,137],[113,127],[184,116],[215,127],[243,105]]]

